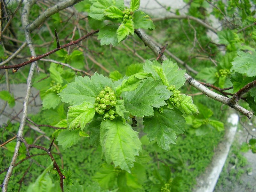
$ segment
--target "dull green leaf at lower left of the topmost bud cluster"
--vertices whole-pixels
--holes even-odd
[[[112,44],[116,46],[118,44],[116,30],[118,25],[107,25],[100,29],[98,33],[98,39],[100,39],[100,45]]]

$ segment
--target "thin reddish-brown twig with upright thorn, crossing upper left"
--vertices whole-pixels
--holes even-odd
[[[40,60],[40,59],[42,59],[42,58],[44,58],[44,57],[46,57],[46,56],[48,56],[48,55],[51,55],[52,53],[55,53],[55,52],[57,52],[57,51],[59,51],[59,50],[61,50],[61,49],[64,49],[64,48],[69,47],[69,46],[71,46],[71,45],[76,45],[76,44],[78,44],[80,41],[83,41],[85,38],[87,38],[87,37],[89,37],[89,36],[92,36],[92,35],[94,35],[94,34],[96,34],[96,33],[98,33],[98,32],[99,32],[99,29],[98,29],[98,30],[95,30],[95,31],[92,31],[92,32],[90,32],[90,33],[87,33],[86,35],[80,37],[80,38],[77,39],[76,41],[72,41],[72,42],[70,42],[70,43],[68,43],[68,44],[61,45],[59,48],[53,49],[52,51],[49,51],[49,52],[44,53],[44,54],[42,54],[42,55],[39,55],[39,56],[37,56],[37,57],[32,56],[32,57],[31,57],[31,60],[29,60],[29,61],[26,61],[26,62],[17,64],[17,65],[0,66],[0,69],[12,69],[12,68],[13,68],[13,69],[16,69],[16,71],[17,71],[17,69],[19,69],[19,68],[21,68],[21,67],[23,67],[23,66],[25,66],[25,65],[28,65],[28,64],[30,64],[30,63],[33,63],[33,62],[35,62],[35,61],[37,61],[37,60]],[[15,71],[15,72],[16,72],[16,71]]]

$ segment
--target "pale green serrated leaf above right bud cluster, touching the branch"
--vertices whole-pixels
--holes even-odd
[[[177,63],[173,63],[171,60],[165,60],[163,62],[163,70],[169,81],[169,85],[175,85],[175,89],[179,89],[185,82],[184,76],[186,70],[179,70]]]

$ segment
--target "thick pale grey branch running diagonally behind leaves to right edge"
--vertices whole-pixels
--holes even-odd
[[[161,49],[147,36],[141,29],[135,29],[135,33],[140,37],[140,39],[144,42],[145,45],[147,45],[156,55],[161,52]],[[167,57],[163,54],[160,57],[161,60],[167,60]],[[253,112],[248,111],[247,109],[235,104],[235,105],[230,105],[228,103],[228,98],[224,97],[218,93],[215,93],[208,88],[206,88],[204,85],[200,84],[198,81],[196,81],[193,77],[189,76],[187,73],[185,73],[185,78],[187,79],[187,82],[191,84],[193,87],[195,87],[197,90],[201,91],[204,93],[206,96],[219,101],[225,105],[228,105],[229,107],[232,107],[239,111],[240,113],[244,114],[247,116],[249,119],[252,118]]]

